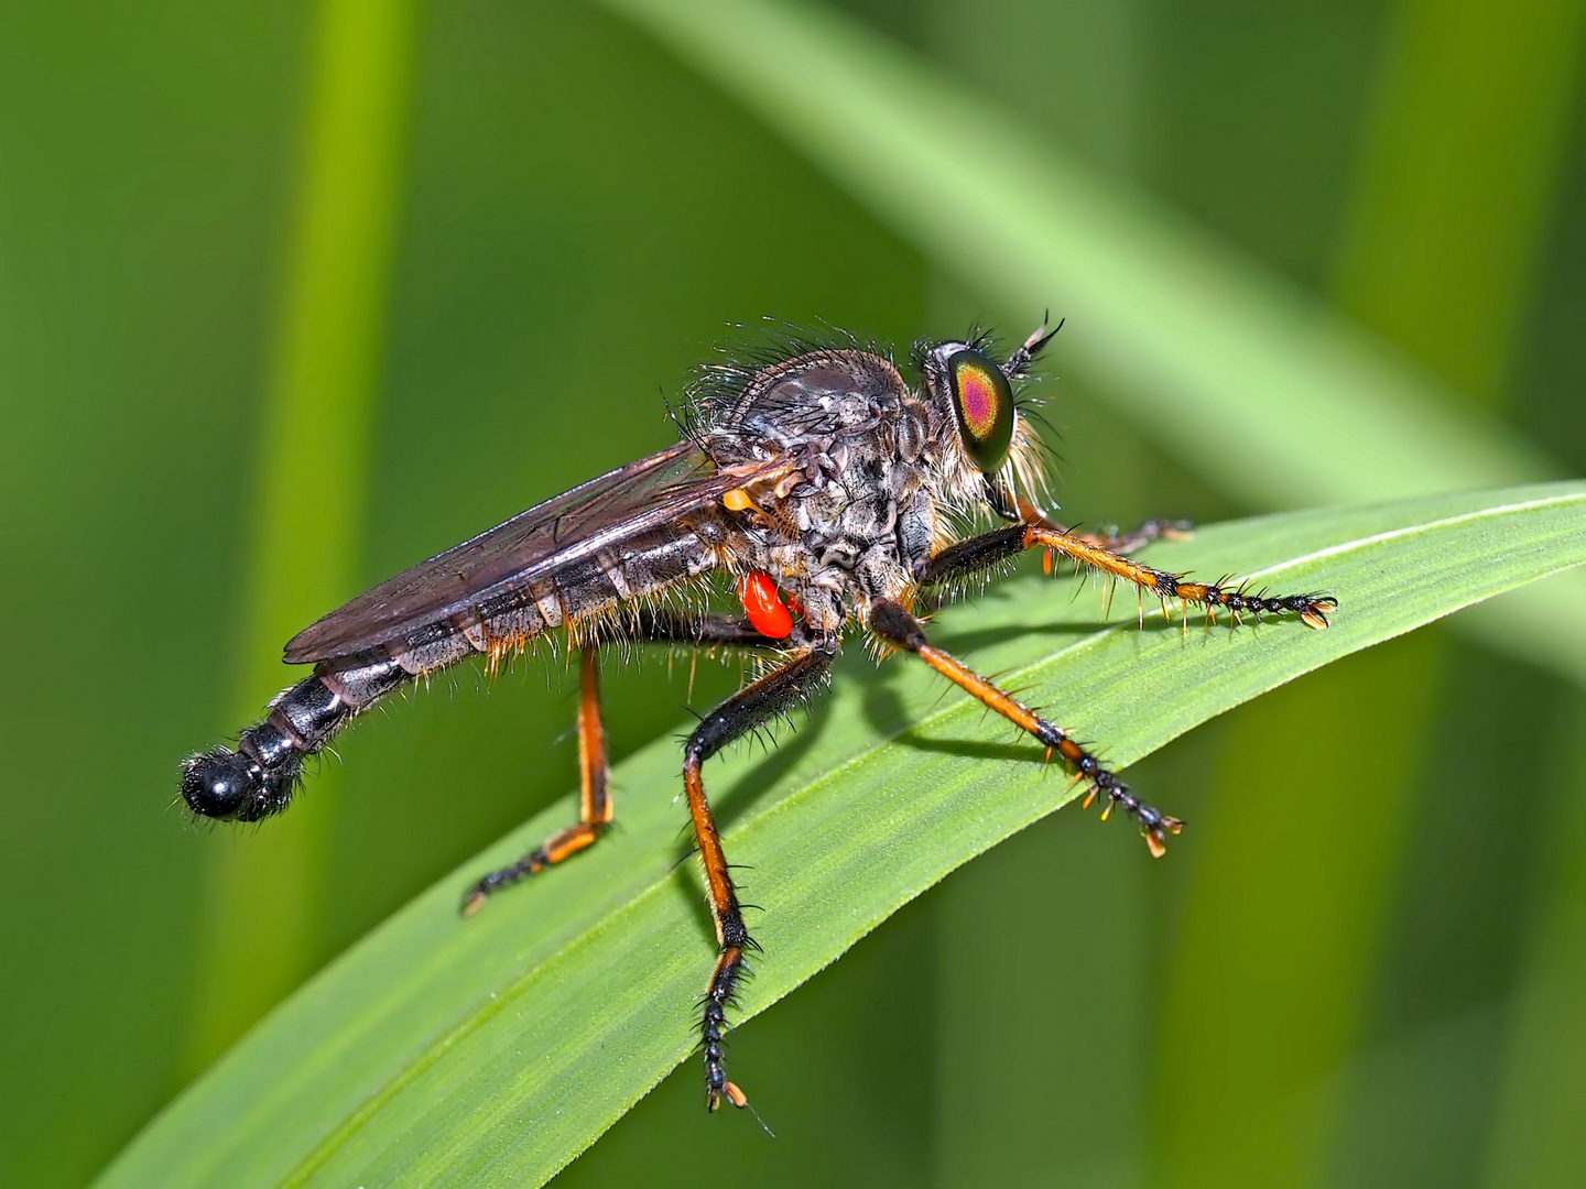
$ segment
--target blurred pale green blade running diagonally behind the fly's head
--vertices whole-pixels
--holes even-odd
[[[1066,315],[1064,373],[1255,507],[1564,474],[1348,319],[826,5],[606,3],[974,292]],[[1575,574],[1459,623],[1586,682],[1583,601]]]

